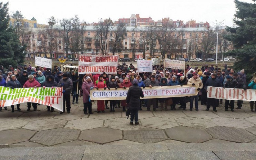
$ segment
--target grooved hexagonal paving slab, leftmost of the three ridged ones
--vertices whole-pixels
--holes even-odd
[[[80,131],[68,128],[57,128],[37,132],[30,141],[52,146],[78,139]]]

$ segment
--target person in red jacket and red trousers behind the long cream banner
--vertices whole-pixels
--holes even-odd
[[[103,75],[99,76],[99,79],[95,81],[94,88],[97,90],[99,88],[104,88],[104,90],[107,89],[106,82],[103,79]],[[97,100],[97,113],[100,113],[102,111],[103,113],[105,112],[105,103],[104,100]]]

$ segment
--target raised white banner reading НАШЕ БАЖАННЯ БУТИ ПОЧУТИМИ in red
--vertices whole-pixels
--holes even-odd
[[[118,55],[83,55],[78,58],[78,73],[116,74]]]

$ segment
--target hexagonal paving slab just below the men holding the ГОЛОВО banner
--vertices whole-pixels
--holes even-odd
[[[230,109],[228,111],[220,110],[215,114],[219,115],[219,117],[227,117],[227,118],[237,118],[237,119],[245,119],[252,115],[245,113],[242,110],[234,109],[234,112],[231,112]]]

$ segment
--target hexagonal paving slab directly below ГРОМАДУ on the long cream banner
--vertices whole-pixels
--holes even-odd
[[[168,110],[168,111],[157,111],[153,112],[155,117],[161,117],[161,118],[170,118],[170,119],[177,119],[182,117],[187,117],[182,111],[177,110]]]

